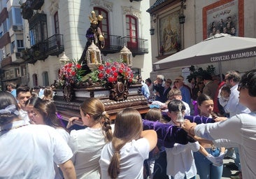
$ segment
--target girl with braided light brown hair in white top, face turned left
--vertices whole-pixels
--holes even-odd
[[[77,178],[100,178],[101,150],[113,137],[111,120],[104,104],[96,98],[88,98],[81,103],[80,117],[86,128],[71,130],[69,138],[76,175]],[[67,128],[78,119],[79,117],[71,117]]]

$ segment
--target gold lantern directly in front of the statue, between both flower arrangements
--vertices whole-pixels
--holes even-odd
[[[97,69],[101,64],[101,50],[93,42],[86,51],[86,60],[90,70]]]

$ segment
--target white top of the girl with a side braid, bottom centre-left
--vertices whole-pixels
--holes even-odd
[[[73,151],[72,161],[77,178],[100,178],[99,158],[105,144],[106,141],[101,128],[87,127],[71,131],[69,146]]]

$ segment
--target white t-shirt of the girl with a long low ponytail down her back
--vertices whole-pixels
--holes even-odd
[[[126,143],[120,150],[120,173],[118,178],[143,178],[143,162],[148,159],[150,145],[148,140],[140,138]],[[107,143],[102,152],[99,164],[101,166],[101,178],[110,178],[108,176],[108,165],[111,163],[113,156],[113,145]]]

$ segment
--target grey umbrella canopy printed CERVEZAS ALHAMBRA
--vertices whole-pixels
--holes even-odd
[[[153,69],[157,71],[178,66],[207,64],[249,57],[256,57],[256,38],[216,34],[159,62],[155,62]]]

